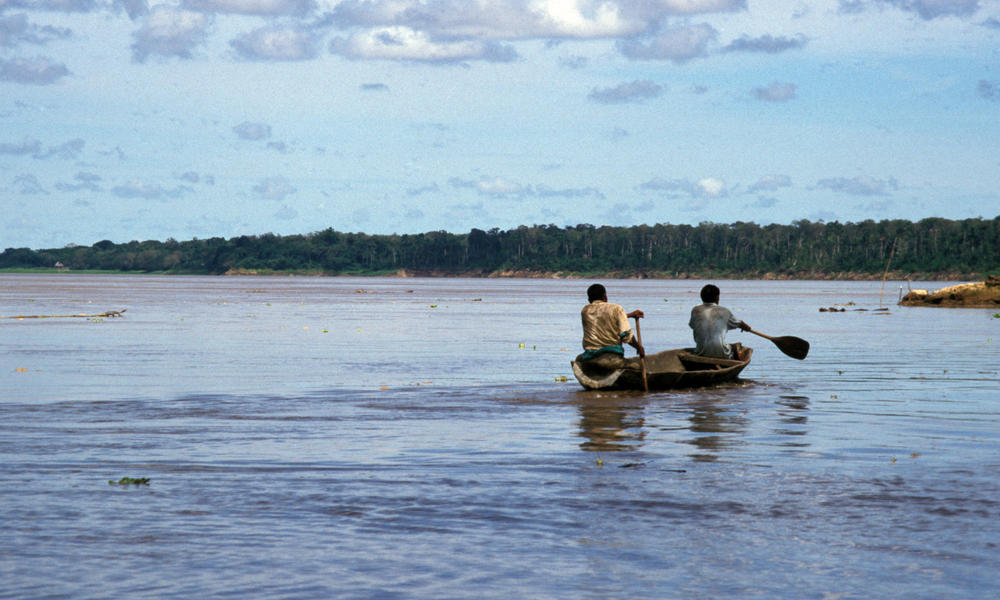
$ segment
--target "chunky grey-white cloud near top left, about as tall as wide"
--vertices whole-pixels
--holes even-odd
[[[208,15],[159,5],[132,34],[132,58],[145,62],[150,55],[191,58],[191,52],[205,42],[211,19]]]

